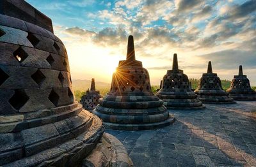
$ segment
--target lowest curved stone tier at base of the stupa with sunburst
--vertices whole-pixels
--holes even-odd
[[[169,126],[175,121],[174,117],[170,115],[169,119],[162,122],[154,122],[148,124],[115,124],[110,122],[103,122],[106,129],[124,130],[124,131],[140,131],[148,129],[157,129],[164,126]]]

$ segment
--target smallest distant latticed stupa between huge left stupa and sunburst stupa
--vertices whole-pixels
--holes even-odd
[[[92,112],[92,110],[99,104],[99,98],[102,98],[100,91],[95,89],[95,80],[92,78],[91,89],[86,91],[86,94],[82,96],[80,103],[85,110]]]

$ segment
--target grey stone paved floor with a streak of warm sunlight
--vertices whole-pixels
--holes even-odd
[[[172,126],[150,131],[106,130],[134,166],[256,166],[256,102],[170,110]]]

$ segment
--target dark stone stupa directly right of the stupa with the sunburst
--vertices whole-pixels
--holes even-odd
[[[164,101],[164,106],[172,109],[202,109],[203,103],[191,91],[189,79],[183,70],[179,69],[177,54],[173,55],[172,70],[163,77],[163,85],[157,96]]]

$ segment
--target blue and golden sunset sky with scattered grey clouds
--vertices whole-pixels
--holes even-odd
[[[134,36],[136,59],[159,85],[172,68],[232,80],[243,65],[256,85],[256,0],[26,0],[52,19],[68,52],[72,80],[111,82]]]

